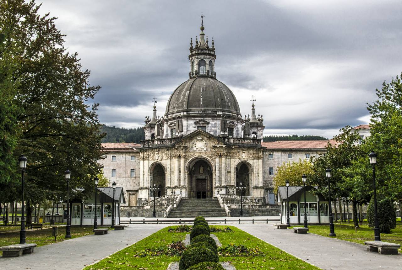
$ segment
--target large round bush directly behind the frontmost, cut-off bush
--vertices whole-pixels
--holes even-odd
[[[205,248],[204,246],[193,246],[181,254],[178,269],[186,270],[200,262],[219,262],[219,257],[215,252]]]

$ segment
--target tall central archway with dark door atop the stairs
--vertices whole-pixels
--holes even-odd
[[[203,158],[189,164],[189,197],[197,199],[212,198],[212,168]]]

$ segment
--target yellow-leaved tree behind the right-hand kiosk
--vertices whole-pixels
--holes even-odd
[[[301,176],[307,175],[308,184],[313,185],[314,181],[311,181],[310,176],[313,173],[313,167],[310,160],[299,159],[298,162],[283,162],[282,166],[277,169],[277,173],[274,176],[274,192],[277,193],[279,186],[284,186],[285,181],[288,180],[292,186],[301,186]]]

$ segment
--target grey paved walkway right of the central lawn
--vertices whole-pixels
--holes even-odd
[[[272,224],[231,225],[322,269],[400,270],[402,267],[402,255],[368,252],[361,244],[313,233],[297,234],[291,229],[277,229]]]

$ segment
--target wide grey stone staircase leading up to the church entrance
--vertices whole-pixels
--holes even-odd
[[[177,208],[170,211],[168,217],[227,217],[218,199],[181,199]]]

